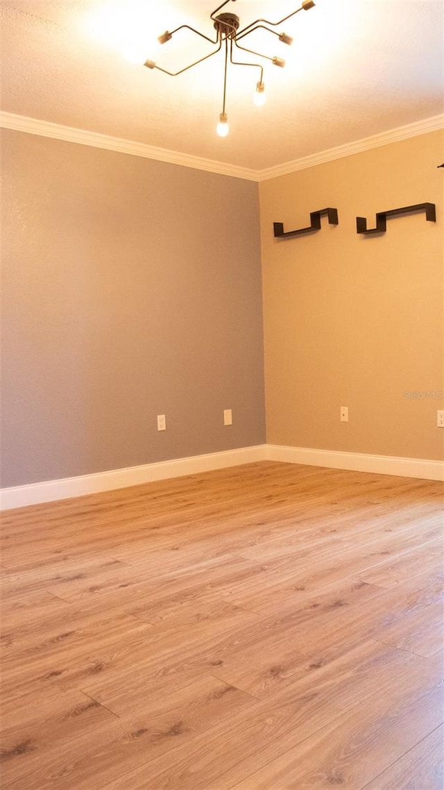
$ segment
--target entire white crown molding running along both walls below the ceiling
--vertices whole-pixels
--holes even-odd
[[[267,167],[265,170],[237,167],[234,164],[203,159],[200,156],[189,156],[177,151],[156,148],[155,145],[124,140],[121,137],[111,137],[108,134],[99,134],[98,132],[90,132],[85,129],[75,129],[73,126],[62,126],[50,121],[40,121],[36,118],[28,118],[26,115],[15,115],[11,112],[0,111],[0,126],[18,132],[39,134],[41,137],[54,137],[56,140],[65,140],[80,145],[91,145],[93,148],[127,153],[131,156],[142,156],[145,159],[154,159],[160,162],[168,162],[169,164],[179,164],[182,167],[193,167],[195,170],[204,170],[209,173],[230,175],[236,179],[261,182],[275,179],[280,175],[288,175],[298,170],[306,170],[307,167],[315,167],[318,164],[332,162],[344,156],[352,156],[369,149],[379,148],[381,145],[407,140],[408,137],[416,137],[420,134],[427,134],[428,132],[442,129],[444,128],[444,113],[433,115],[431,118],[426,118],[422,121],[408,123],[405,126],[398,126],[396,129],[390,129],[380,134],[373,134],[371,137],[363,137],[362,140],[356,140],[345,145],[337,145],[336,148],[327,149],[310,156],[303,156],[301,159],[279,164],[276,167]]]

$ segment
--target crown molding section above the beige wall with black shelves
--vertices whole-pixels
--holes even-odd
[[[320,151],[310,156],[303,156],[302,159],[295,159],[292,162],[278,164],[277,167],[268,167],[265,170],[256,171],[256,179],[258,181],[276,179],[279,175],[288,175],[298,170],[306,170],[307,167],[315,167],[317,164],[333,162],[333,160],[342,159],[344,156],[352,156],[355,153],[361,153],[370,149],[379,148],[381,145],[389,145],[389,143],[407,140],[408,137],[417,137],[420,134],[435,132],[442,128],[444,128],[444,113],[441,115],[433,115],[431,118],[426,118],[422,121],[408,123],[405,126],[397,126],[396,129],[390,129],[380,134],[373,134],[371,137],[363,137],[362,140],[356,140],[351,143],[346,143],[345,145],[337,145],[337,147],[333,149]]]

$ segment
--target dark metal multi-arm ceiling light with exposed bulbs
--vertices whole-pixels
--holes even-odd
[[[273,63],[273,66],[280,66],[283,68],[285,66],[284,58],[278,58],[275,55],[273,58],[269,55],[263,55],[261,52],[255,52],[254,50],[248,49],[248,47],[244,47],[239,42],[246,38],[246,36],[250,36],[250,33],[253,33],[255,30],[262,28],[269,33],[273,33],[274,36],[277,36],[278,39],[284,43],[292,44],[291,36],[287,36],[284,32],[278,33],[273,28],[277,28],[280,24],[290,19],[290,17],[294,17],[296,13],[299,11],[307,11],[310,8],[313,8],[314,2],[313,0],[303,0],[302,6],[289,13],[287,17],[280,19],[277,22],[270,22],[267,19],[256,19],[254,22],[250,22],[247,24],[245,28],[241,28],[239,17],[236,16],[235,13],[231,13],[231,11],[225,13],[219,13],[220,9],[223,9],[224,6],[228,6],[229,2],[235,2],[235,0],[225,0],[225,2],[221,3],[216,9],[214,9],[213,13],[210,14],[210,19],[213,21],[214,28],[216,29],[216,40],[209,38],[209,36],[205,36],[204,33],[192,28],[190,24],[181,24],[179,28],[175,28],[175,30],[166,30],[159,36],[158,41],[161,44],[167,43],[170,41],[171,38],[175,35],[175,33],[179,32],[179,30],[190,30],[193,33],[196,33],[198,36],[201,36],[202,39],[209,41],[209,43],[216,44],[216,49],[212,52],[209,52],[208,55],[204,55],[203,58],[199,58],[195,60],[193,63],[190,63],[189,66],[184,66],[183,69],[179,71],[168,71],[164,69],[162,66],[158,66],[156,62],[152,60],[145,61],[145,66],[149,69],[158,69],[159,71],[164,72],[164,74],[169,74],[170,77],[177,77],[179,74],[182,74],[184,71],[193,68],[193,66],[197,66],[198,63],[207,60],[208,58],[212,58],[213,55],[216,55],[217,52],[221,50],[224,51],[224,94],[222,100],[222,112],[219,116],[219,123],[216,126],[216,132],[219,134],[220,137],[226,137],[228,134],[228,115],[226,112],[226,99],[227,99],[227,72],[228,72],[228,62],[230,62],[233,66],[251,66],[255,69],[259,69],[260,77],[256,84],[256,90],[254,92],[254,103],[258,106],[265,104],[265,85],[263,81],[264,76],[264,69],[260,63],[246,63],[246,62],[239,62],[234,60],[233,52],[234,47],[243,52],[248,52],[250,55],[255,55],[258,58],[265,58],[265,60],[269,60]]]

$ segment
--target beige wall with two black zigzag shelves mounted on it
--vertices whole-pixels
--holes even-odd
[[[403,457],[442,457],[444,389],[442,133],[414,137],[260,185],[267,440]],[[435,202],[356,234],[356,216]],[[340,224],[306,227],[336,207]],[[425,392],[408,398],[404,393]],[[349,422],[341,423],[341,405]]]

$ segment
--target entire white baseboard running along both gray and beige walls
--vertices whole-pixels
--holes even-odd
[[[92,475],[67,477],[63,480],[47,480],[43,483],[3,488],[0,491],[0,510],[55,502],[57,499],[97,494],[115,488],[137,486],[170,477],[210,472],[254,461],[284,461],[288,464],[324,466],[348,469],[354,472],[374,472],[379,475],[418,477],[423,480],[444,480],[444,463],[421,458],[401,458],[365,453],[342,453],[336,450],[313,450],[310,447],[288,447],[284,445],[257,445],[225,450],[221,453],[176,458],[155,464],[112,469]]]

